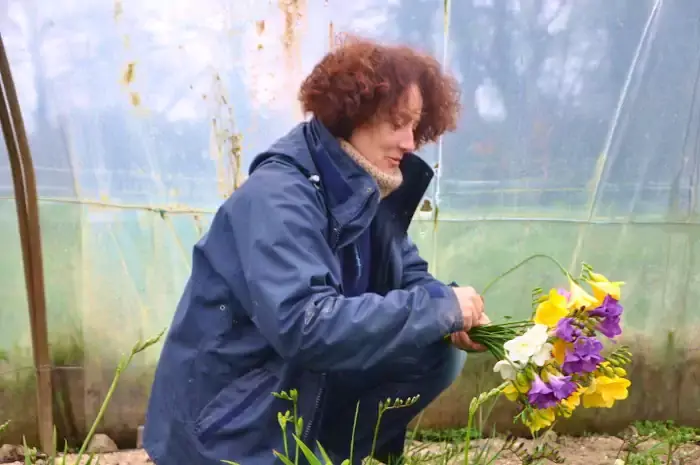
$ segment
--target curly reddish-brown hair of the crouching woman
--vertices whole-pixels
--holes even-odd
[[[417,147],[455,129],[460,110],[457,81],[432,56],[402,45],[381,45],[347,37],[314,67],[301,84],[299,100],[341,138],[377,119],[401,124],[403,99],[416,85],[423,111],[414,131]]]

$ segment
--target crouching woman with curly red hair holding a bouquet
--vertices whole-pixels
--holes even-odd
[[[434,279],[407,236],[433,176],[412,152],[454,128],[454,80],[409,48],[351,40],[299,95],[310,121],[255,158],[194,247],[145,424],[158,465],[277,462],[277,414],[292,406],[271,393],[290,389],[302,440],[336,463],[360,402],[359,463],[378,402],[420,395],[382,419],[388,463],[461,371],[459,349],[483,350],[466,335],[485,321],[481,297]]]

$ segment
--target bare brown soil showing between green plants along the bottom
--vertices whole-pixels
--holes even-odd
[[[522,441],[526,448],[532,447],[532,443],[527,440]],[[495,439],[491,442],[492,450],[498,449],[503,444],[503,440]],[[586,438],[559,437],[552,444],[558,449],[561,457],[568,465],[614,465],[615,458],[620,452],[622,441],[618,438],[598,436]],[[475,448],[483,446],[481,441],[473,441]],[[431,463],[444,464],[445,456],[449,457],[448,463],[461,464],[463,460],[462,452],[454,446],[440,443],[413,443],[409,445],[417,463],[429,465]],[[623,455],[621,455],[622,457]],[[676,464],[700,465],[700,445],[683,446],[676,457],[685,457],[684,461],[674,460]],[[665,456],[662,455],[662,462],[666,463]],[[73,464],[68,460],[68,463]],[[23,462],[11,462],[12,465],[22,465]],[[100,457],[101,465],[145,465],[152,463],[143,450],[124,450],[110,454],[103,454]],[[552,463],[544,461],[542,463]],[[650,462],[651,463],[651,462]],[[657,462],[658,463],[658,462]],[[492,462],[494,465],[520,465],[521,460],[511,452],[505,452],[502,457]]]

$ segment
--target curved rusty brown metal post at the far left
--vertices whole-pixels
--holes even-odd
[[[29,324],[32,332],[32,351],[36,369],[39,442],[44,453],[53,455],[56,452],[53,441],[53,390],[48,325],[46,323],[39,202],[37,200],[34,164],[29,151],[22,112],[12,80],[2,34],[0,34],[0,97],[2,99],[0,124],[12,167],[17,222],[22,242],[24,281],[27,287]]]

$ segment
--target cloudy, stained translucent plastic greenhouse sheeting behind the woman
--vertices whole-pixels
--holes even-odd
[[[585,260],[626,281],[636,351],[697,360],[698,18],[700,3],[661,0],[1,3],[39,184],[52,349],[76,367],[59,389],[81,396],[72,423],[92,420],[117,357],[169,324],[192,245],[251,158],[302,119],[298,84],[342,32],[416,45],[461,84],[459,128],[421,151],[437,178],[412,227],[439,278],[479,289],[532,253],[572,271]],[[32,371],[31,338],[0,150],[9,385]],[[531,289],[559,283],[533,264],[493,288],[488,312],[525,317]],[[136,361],[106,424],[142,421],[158,351]],[[700,422],[672,405],[662,416]]]

